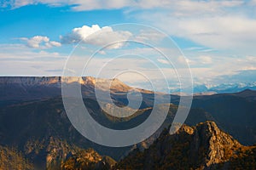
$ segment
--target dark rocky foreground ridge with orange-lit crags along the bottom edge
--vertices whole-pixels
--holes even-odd
[[[10,151],[7,151],[10,150]],[[244,146],[215,122],[201,122],[195,127],[183,125],[170,135],[165,129],[146,150],[135,149],[119,162],[101,156],[93,149],[81,149],[61,139],[31,141],[26,154],[0,148],[0,169],[33,169],[28,157],[44,150],[46,169],[255,169],[256,146]],[[12,159],[11,161],[8,159]],[[6,162],[5,164],[3,162]],[[19,168],[18,168],[19,169]]]

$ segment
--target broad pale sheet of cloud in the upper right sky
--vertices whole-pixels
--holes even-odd
[[[189,16],[179,17],[175,16],[176,12],[142,12],[136,17],[137,20],[159,27],[171,36],[189,39],[208,48],[254,51],[256,20],[241,11],[228,14],[188,13]]]

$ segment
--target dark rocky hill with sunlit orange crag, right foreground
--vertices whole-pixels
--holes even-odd
[[[183,125],[173,135],[165,130],[148,150],[133,150],[116,168],[229,169],[230,160],[242,157],[253,148],[241,145],[219,130],[215,122],[199,123],[195,127]],[[129,163],[131,161],[134,163]]]

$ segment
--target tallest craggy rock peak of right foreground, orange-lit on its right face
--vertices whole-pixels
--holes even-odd
[[[199,123],[195,127],[192,137],[191,156],[197,157],[204,154],[206,167],[226,161],[229,157],[226,150],[241,147],[236,139],[222,132],[215,122]]]

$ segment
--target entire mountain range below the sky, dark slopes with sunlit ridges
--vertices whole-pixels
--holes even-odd
[[[152,111],[154,95],[158,95],[163,101],[167,95],[170,95],[131,88],[118,79],[73,77],[69,80],[68,83],[79,82],[81,84],[84,105],[90,115],[103,126],[113,129],[136,127],[145,121]],[[96,82],[99,82],[97,86]],[[104,100],[107,110],[106,108],[102,110],[97,103],[94,89],[96,86],[104,92],[109,84],[111,84],[111,99],[119,106],[128,104],[127,93],[131,90],[142,94],[142,105],[133,116],[118,118],[109,115],[105,112],[111,111],[112,108],[108,99]],[[19,160],[9,166],[24,166],[21,169],[31,167],[38,169],[81,169],[82,167],[82,169],[153,169],[154,167],[166,169],[168,166],[207,169],[213,168],[216,164],[217,167],[232,169],[232,166],[236,166],[233,163],[239,162],[239,166],[244,166],[243,163],[246,161],[241,160],[247,159],[254,160],[248,165],[254,166],[256,91],[253,90],[247,89],[235,94],[194,96],[189,116],[185,122],[188,126],[183,126],[178,133],[173,135],[166,133],[166,129],[176,114],[180,97],[171,95],[170,102],[155,105],[159,114],[164,108],[169,109],[166,121],[156,133],[139,144],[109,148],[85,139],[69,122],[61,99],[61,77],[0,77],[0,87],[0,145],[4,153],[0,162],[6,162],[6,157],[10,156],[13,156],[14,160]],[[186,129],[190,129],[189,133]],[[234,139],[230,137],[230,134]],[[188,142],[189,146],[186,149]],[[173,148],[170,145],[177,145],[182,149],[174,150],[176,147]],[[204,148],[201,149],[202,154],[198,151],[201,147]],[[214,149],[209,149],[212,147]],[[166,153],[164,153],[165,150]],[[223,152],[227,150],[228,152],[232,150],[234,153],[226,157]],[[216,159],[211,155],[213,152],[216,152],[218,162],[211,161]],[[192,157],[197,155],[196,160],[200,161],[188,161],[191,154],[194,154]],[[179,156],[188,159],[186,161],[188,163],[184,165],[182,163],[184,160]],[[154,159],[154,157],[159,159]],[[163,162],[161,164],[167,167],[161,167],[159,162]],[[167,165],[170,162],[175,162],[175,165]],[[229,162],[229,165],[225,162]],[[7,164],[3,163],[3,165]],[[133,165],[138,167],[132,167]],[[150,165],[150,167],[143,167],[143,165]],[[186,167],[178,168],[187,169]],[[14,167],[14,169],[17,168]]]

